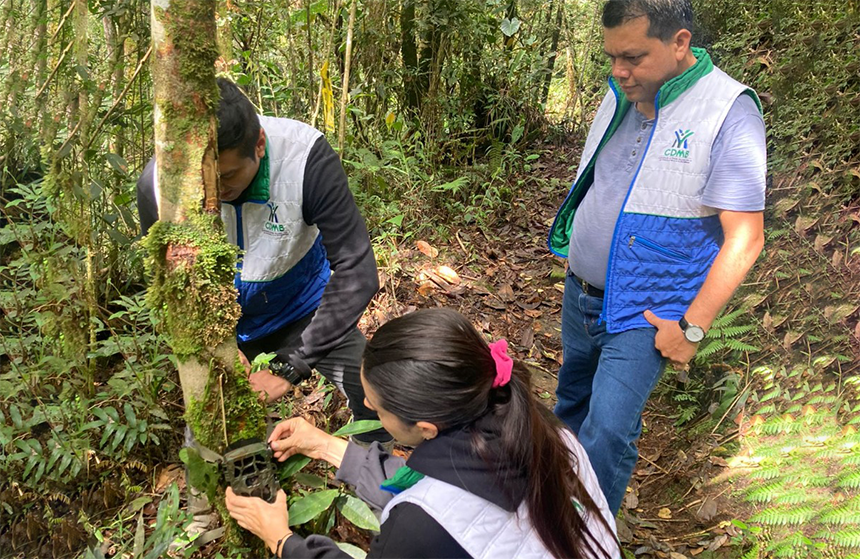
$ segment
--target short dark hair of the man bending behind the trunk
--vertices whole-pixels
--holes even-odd
[[[238,149],[239,155],[254,159],[260,137],[260,119],[254,105],[230,80],[218,78],[221,103],[218,105],[218,151]]]

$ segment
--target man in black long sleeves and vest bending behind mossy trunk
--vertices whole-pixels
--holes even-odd
[[[237,339],[249,359],[277,354],[274,374],[252,374],[251,386],[272,402],[316,368],[346,394],[356,420],[377,419],[364,405],[365,338],[356,324],[379,280],[340,158],[315,128],[258,117],[235,84],[219,78],[218,88],[221,217],[243,251]],[[144,234],[158,219],[154,163],[137,182]],[[391,435],[380,429],[356,439],[387,442]]]

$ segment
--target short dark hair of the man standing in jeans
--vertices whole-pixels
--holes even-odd
[[[668,41],[681,29],[693,32],[690,0],[609,0],[603,5],[603,27],[613,28],[648,18],[648,36]]]

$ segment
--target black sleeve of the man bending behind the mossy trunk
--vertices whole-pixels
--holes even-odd
[[[309,372],[358,323],[379,289],[379,279],[364,219],[349,190],[340,157],[325,137],[317,140],[308,155],[302,196],[304,220],[319,228],[332,276],[316,314],[302,333],[301,347],[281,358]]]

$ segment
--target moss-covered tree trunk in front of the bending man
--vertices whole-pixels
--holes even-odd
[[[230,442],[265,436],[265,410],[234,337],[237,249],[220,220],[215,37],[215,0],[152,2],[159,222],[144,244],[148,302],[178,359],[186,421],[200,444],[223,453]],[[235,528],[220,495],[215,504]]]

